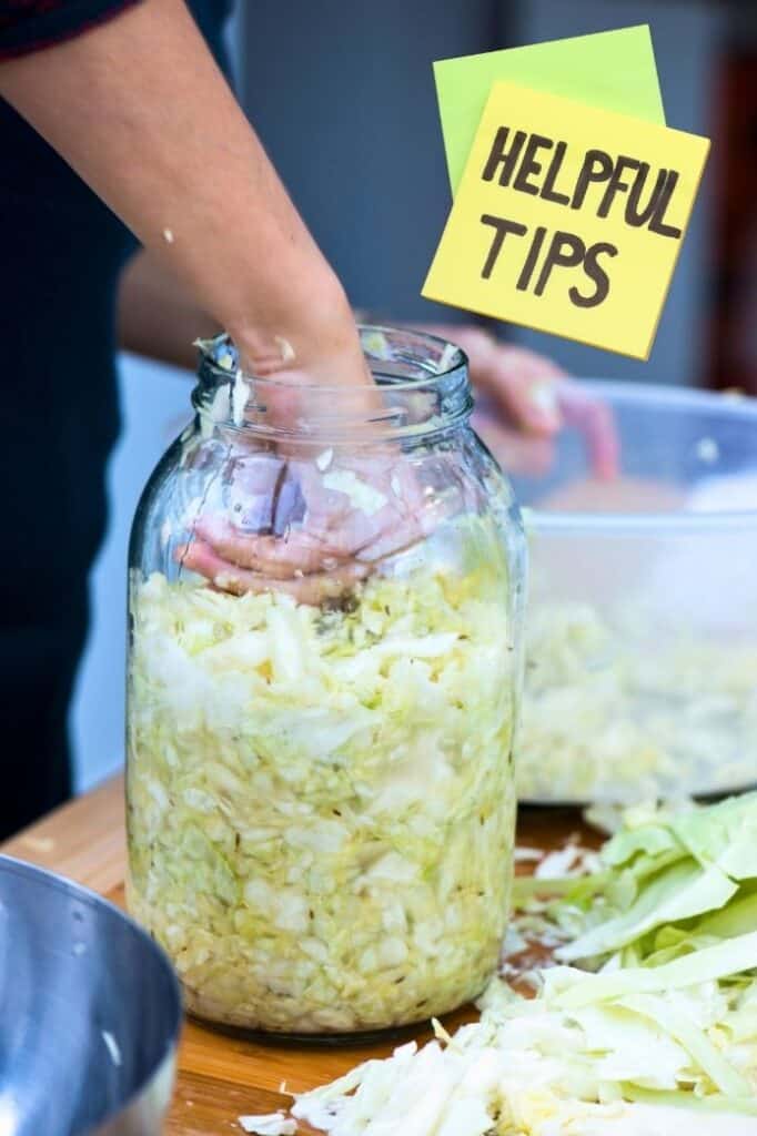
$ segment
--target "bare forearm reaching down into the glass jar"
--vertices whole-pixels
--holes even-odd
[[[350,353],[342,290],[182,0],[2,65],[0,92],[252,359],[285,340],[317,377]]]

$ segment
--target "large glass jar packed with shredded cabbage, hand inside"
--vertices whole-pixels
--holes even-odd
[[[369,395],[203,344],[132,534],[128,905],[255,1030],[452,1010],[507,919],[521,523],[465,356],[361,335]]]

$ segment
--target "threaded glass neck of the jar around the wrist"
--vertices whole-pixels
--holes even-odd
[[[192,403],[201,417],[209,416],[223,429],[272,438],[302,438],[317,433],[335,440],[344,434],[344,441],[351,436],[357,442],[360,438],[353,432],[366,426],[372,427],[374,441],[376,432],[381,441],[427,437],[468,420],[473,396],[468,359],[461,348],[411,328],[358,325],[358,332],[375,390],[384,396],[385,406],[380,410],[366,412],[363,385],[305,384],[243,371],[226,333],[196,341],[200,362]],[[286,423],[281,416],[274,420],[271,402],[294,396],[298,414]]]

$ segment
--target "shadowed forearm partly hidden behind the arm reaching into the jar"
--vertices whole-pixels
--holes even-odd
[[[196,339],[222,327],[155,254],[141,249],[126,265],[118,289],[118,342],[126,351],[177,367],[197,366]]]

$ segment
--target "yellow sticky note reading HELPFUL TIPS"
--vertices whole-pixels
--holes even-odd
[[[647,359],[708,149],[496,83],[423,295]]]

